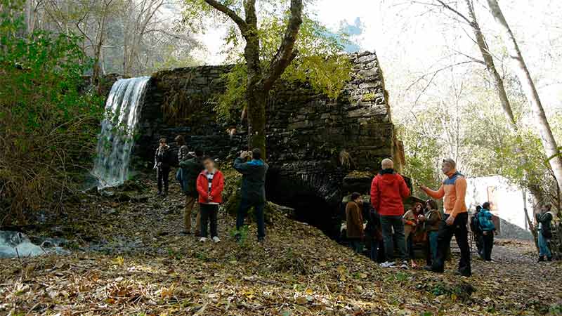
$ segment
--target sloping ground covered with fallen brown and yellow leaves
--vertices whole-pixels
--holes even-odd
[[[443,275],[383,269],[282,214],[266,242],[250,225],[237,244],[221,212],[222,242],[201,243],[180,233],[175,187],[145,192],[85,195],[64,225],[37,232],[67,237],[70,255],[0,260],[0,314],[562,315],[562,264],[537,265],[529,243],[499,240],[471,278],[452,275],[455,263]]]

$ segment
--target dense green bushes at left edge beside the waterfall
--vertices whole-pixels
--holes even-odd
[[[91,162],[103,107],[80,91],[91,68],[80,39],[21,35],[21,1],[0,3],[9,8],[0,17],[0,221],[9,223],[62,206]]]

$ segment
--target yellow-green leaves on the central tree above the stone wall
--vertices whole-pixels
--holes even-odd
[[[244,41],[237,27],[217,14],[216,10],[204,4],[202,0],[186,0],[189,4],[185,11],[184,22],[199,29],[200,21],[204,16],[213,15],[223,23],[230,23],[230,31],[225,38],[226,51],[229,62],[236,66],[233,71],[225,74],[226,92],[219,96],[216,112],[218,119],[228,123],[237,120],[244,107],[246,107],[247,69],[242,54]],[[241,15],[242,1],[221,1],[233,11]],[[259,1],[261,18],[257,36],[260,41],[261,69],[267,70],[270,62],[277,53],[282,41],[282,34],[289,18],[287,11],[288,1]],[[305,1],[311,4],[313,1]],[[303,12],[303,23],[295,43],[298,51],[296,59],[282,74],[281,81],[289,84],[309,82],[318,93],[324,93],[329,98],[338,98],[344,84],[350,79],[351,62],[344,54],[344,44],[348,41],[345,34],[330,33],[328,29],[317,20]],[[275,89],[275,88],[274,88]]]

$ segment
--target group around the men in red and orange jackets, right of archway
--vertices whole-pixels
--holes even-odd
[[[379,249],[384,248],[384,268],[395,267],[394,246],[397,246],[400,268],[409,268],[408,259],[415,266],[414,239],[423,232],[428,239],[426,270],[443,272],[452,236],[455,235],[461,252],[457,272],[469,277],[471,259],[468,242],[468,213],[464,204],[466,179],[456,169],[452,159],[444,159],[441,171],[447,179],[438,190],[421,185],[420,189],[433,199],[444,198],[444,213],[438,211],[436,202],[429,199],[425,207],[420,203],[404,212],[403,199],[410,196],[405,180],[394,170],[391,159],[381,162],[381,171],[371,183],[371,205],[366,232],[363,229],[362,200],[354,192],[346,205],[347,234],[355,251],[362,251],[362,240],[371,239],[371,258],[376,260]],[[377,233],[377,228],[380,232]]]

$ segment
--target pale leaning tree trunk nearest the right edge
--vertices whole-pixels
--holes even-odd
[[[550,166],[556,177],[558,187],[562,187],[562,157],[558,155],[558,145],[556,145],[556,140],[552,135],[547,116],[544,114],[544,108],[542,107],[539,93],[537,93],[537,88],[532,81],[525,60],[523,60],[523,55],[521,55],[521,50],[519,49],[513,32],[511,32],[511,28],[507,24],[507,20],[504,18],[501,8],[499,8],[499,4],[497,4],[497,0],[488,0],[488,6],[490,7],[490,13],[492,13],[497,24],[502,29],[507,52],[518,72],[518,77],[525,91],[525,95],[531,104],[533,116],[535,117],[539,129],[542,146],[544,147],[544,153],[547,157],[551,157],[551,159],[549,159]]]

